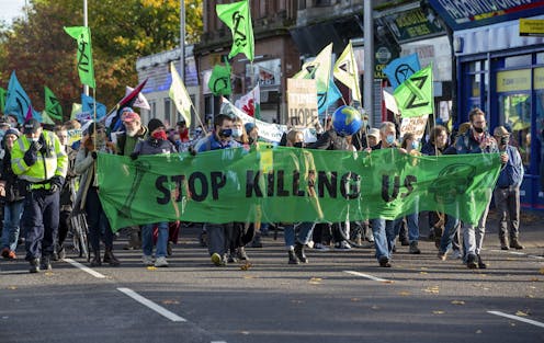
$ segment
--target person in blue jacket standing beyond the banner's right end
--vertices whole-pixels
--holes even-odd
[[[500,216],[500,249],[523,249],[519,241],[520,186],[524,173],[523,161],[518,149],[510,146],[510,133],[503,126],[495,128],[494,137],[498,142],[502,161],[502,168],[494,191],[495,205]],[[510,231],[510,244],[508,244],[508,231]]]

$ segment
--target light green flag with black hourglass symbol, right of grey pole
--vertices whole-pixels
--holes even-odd
[[[432,64],[413,73],[394,92],[400,116],[416,117],[434,112],[432,94]]]

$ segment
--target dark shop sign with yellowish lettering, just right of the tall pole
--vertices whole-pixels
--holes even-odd
[[[419,39],[444,32],[444,28],[435,18],[426,16],[419,8],[387,15],[385,22],[398,42]]]

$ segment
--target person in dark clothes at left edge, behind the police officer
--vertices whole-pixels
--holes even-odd
[[[20,137],[16,128],[10,128],[5,132],[2,139],[2,149],[4,150],[2,169],[0,170],[0,195],[3,198],[4,217],[2,230],[2,256],[9,260],[15,260],[15,250],[20,236],[21,215],[23,214],[24,195],[21,194],[22,182],[15,175],[11,168],[11,151],[13,144]]]

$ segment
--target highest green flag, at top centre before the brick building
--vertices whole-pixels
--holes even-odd
[[[241,53],[252,61],[254,58],[254,39],[249,1],[243,0],[217,4],[215,10],[217,11],[217,16],[219,16],[233,32],[234,42],[228,58],[230,59]]]

